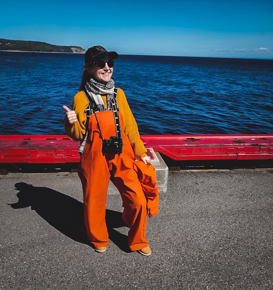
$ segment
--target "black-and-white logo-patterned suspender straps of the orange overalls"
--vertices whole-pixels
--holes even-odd
[[[84,151],[84,147],[87,141],[87,137],[88,137],[88,127],[89,127],[89,118],[91,116],[91,108],[93,109],[93,113],[95,113],[95,106],[93,101],[89,98],[89,96],[84,92],[84,95],[86,97],[86,99],[88,100],[88,107],[85,109],[85,113],[86,113],[86,123],[85,123],[85,134],[83,139],[80,142],[80,147],[78,150],[78,153],[81,155]],[[114,94],[113,94],[113,99],[110,101],[111,102],[111,106],[112,106],[112,111],[114,114],[114,121],[115,121],[115,128],[116,128],[116,136],[119,140],[119,143],[121,144],[121,153],[122,153],[122,148],[123,148],[123,142],[122,142],[122,132],[121,132],[121,128],[120,128],[120,124],[119,124],[119,117],[118,117],[118,106],[116,103],[117,100],[117,95],[118,95],[118,88],[115,87],[114,88]],[[95,114],[96,120],[97,120],[97,116]],[[97,120],[98,122],[98,120]],[[99,122],[98,122],[98,128],[99,128]],[[100,131],[100,128],[99,128]],[[101,135],[101,131],[100,131],[100,138],[102,138]],[[103,139],[103,138],[102,138]]]

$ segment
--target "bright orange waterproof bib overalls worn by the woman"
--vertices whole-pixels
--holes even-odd
[[[122,218],[128,225],[128,244],[131,251],[148,246],[146,233],[147,201],[137,173],[133,170],[135,156],[128,136],[123,130],[122,114],[118,112],[122,131],[123,150],[120,155],[102,152],[102,139],[95,114],[89,119],[88,139],[80,157],[78,175],[84,195],[84,222],[88,241],[95,247],[108,245],[105,222],[109,180],[118,188],[124,206]],[[116,136],[113,111],[96,113],[103,139]]]

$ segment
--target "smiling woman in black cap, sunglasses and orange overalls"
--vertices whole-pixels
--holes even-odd
[[[80,146],[84,146],[84,150],[78,175],[84,193],[88,241],[98,252],[104,252],[108,245],[105,209],[111,178],[122,197],[122,218],[130,228],[129,248],[150,255],[151,249],[145,237],[147,201],[133,170],[135,156],[146,165],[149,157],[124,92],[114,89],[111,76],[116,58],[116,52],[108,52],[102,46],[88,48],[82,82],[73,99],[72,110],[63,106],[66,110],[65,130],[74,140],[86,139],[85,146]]]

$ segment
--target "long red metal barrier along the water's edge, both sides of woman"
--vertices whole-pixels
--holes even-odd
[[[145,147],[174,160],[273,158],[273,135],[145,135],[141,139]],[[0,163],[79,162],[79,144],[66,135],[0,135]]]

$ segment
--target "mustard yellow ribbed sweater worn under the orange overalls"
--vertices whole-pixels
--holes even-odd
[[[104,105],[107,107],[106,96],[102,96]],[[140,140],[137,123],[131,112],[131,109],[126,100],[125,94],[122,89],[118,89],[117,104],[124,121],[124,132],[128,136],[131,146],[136,157],[147,156],[146,148]],[[86,114],[85,109],[88,107],[88,100],[82,91],[78,92],[72,103],[72,110],[75,111],[77,122],[71,124],[67,117],[65,117],[65,131],[67,135],[75,140],[80,141],[85,134]]]

